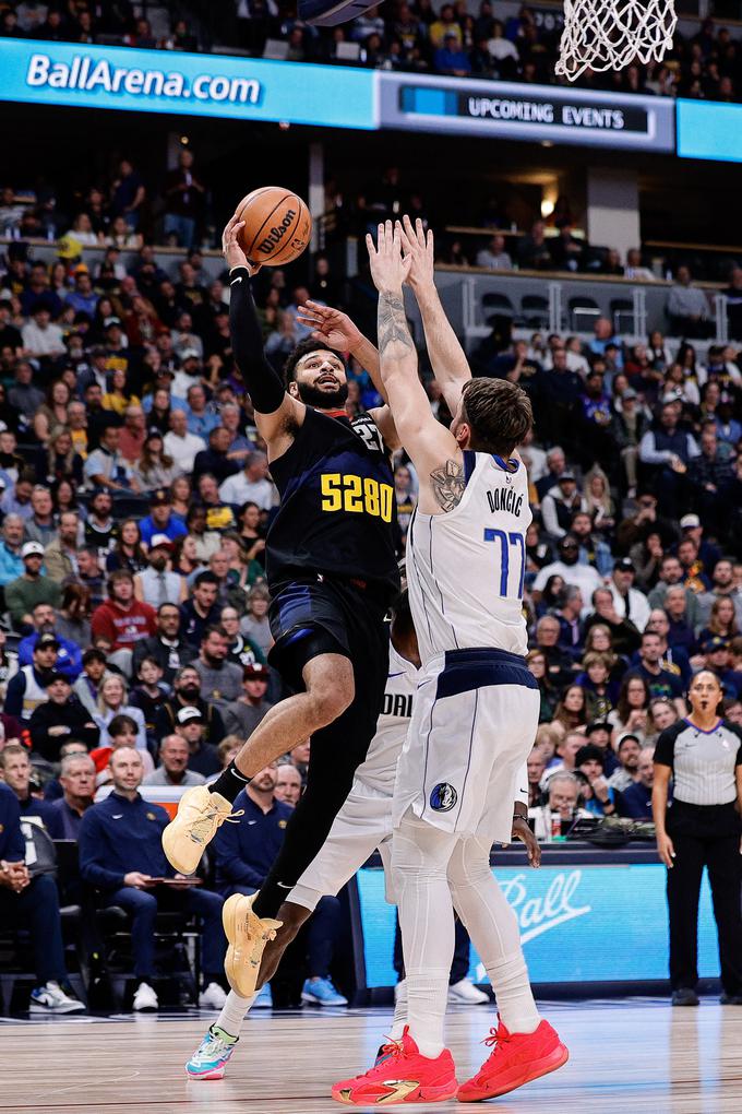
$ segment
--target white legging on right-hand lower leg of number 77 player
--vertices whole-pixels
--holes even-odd
[[[521,948],[517,918],[489,867],[489,844],[472,837],[455,848],[448,881],[456,911],[479,952],[503,1024],[511,1033],[533,1033],[541,1023]]]

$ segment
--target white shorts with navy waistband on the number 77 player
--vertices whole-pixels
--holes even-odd
[[[455,649],[431,658],[397,764],[394,827],[412,808],[444,831],[509,843],[538,707],[536,681],[517,654]]]

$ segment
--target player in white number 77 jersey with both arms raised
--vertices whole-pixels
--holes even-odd
[[[531,512],[515,452],[533,417],[521,388],[472,380],[435,293],[433,237],[422,223],[413,229],[409,222],[404,228],[387,222],[379,225],[376,246],[372,237],[367,245],[379,292],[383,385],[419,477],[407,577],[422,670],[397,765],[392,847],[409,1027],[388,1062],[337,1083],[333,1096],[355,1105],[454,1095],[474,1102],[512,1091],[567,1058],[526,993],[517,925],[488,869],[493,841],[508,838],[516,776],[538,724],[538,690],[523,656]],[[454,414],[449,430],[434,418],[418,378],[403,300],[407,281]],[[461,1087],[443,1038],[454,948],[452,870],[469,885],[477,880],[477,901],[466,906],[463,920],[477,946],[479,939],[492,941],[482,960],[501,1015],[492,1055]]]

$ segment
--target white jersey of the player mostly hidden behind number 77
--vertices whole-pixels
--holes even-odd
[[[417,688],[417,668],[389,644],[389,675],[384,690],[384,706],[376,722],[366,761],[356,770],[356,782],[385,797],[394,792],[397,760],[402,753],[413,714]]]

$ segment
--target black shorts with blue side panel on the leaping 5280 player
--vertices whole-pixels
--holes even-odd
[[[363,582],[307,574],[271,586],[269,622],[274,636],[268,661],[295,690],[301,671],[319,654],[349,658],[355,680],[354,719],[372,736],[384,701],[390,593]],[[370,736],[369,736],[370,737]]]

